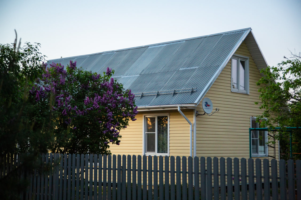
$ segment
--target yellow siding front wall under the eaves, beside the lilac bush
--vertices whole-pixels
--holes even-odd
[[[193,111],[183,109],[182,112],[193,123]],[[137,120],[130,121],[122,130],[120,145],[110,145],[112,154],[142,155],[143,114],[169,113],[169,156],[189,156],[189,123],[177,110],[139,112]]]

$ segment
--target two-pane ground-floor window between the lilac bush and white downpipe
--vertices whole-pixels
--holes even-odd
[[[144,116],[144,154],[168,155],[169,115]]]

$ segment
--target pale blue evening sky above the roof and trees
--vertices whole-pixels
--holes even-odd
[[[251,27],[269,65],[301,51],[301,1],[1,0],[0,43],[39,42],[48,59]]]

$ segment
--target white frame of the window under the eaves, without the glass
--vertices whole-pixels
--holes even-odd
[[[157,153],[158,150],[158,144],[157,144],[157,116],[167,116],[167,153]],[[152,114],[143,114],[143,123],[142,123],[142,155],[151,155],[151,156],[169,156],[169,113],[152,113]],[[156,147],[155,147],[155,153],[146,153],[146,137],[145,137],[145,119],[146,117],[156,117]]]

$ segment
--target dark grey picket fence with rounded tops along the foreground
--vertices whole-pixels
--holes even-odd
[[[20,165],[1,158],[0,178]],[[24,199],[301,199],[301,161],[43,154]],[[26,175],[27,174],[27,175]]]

